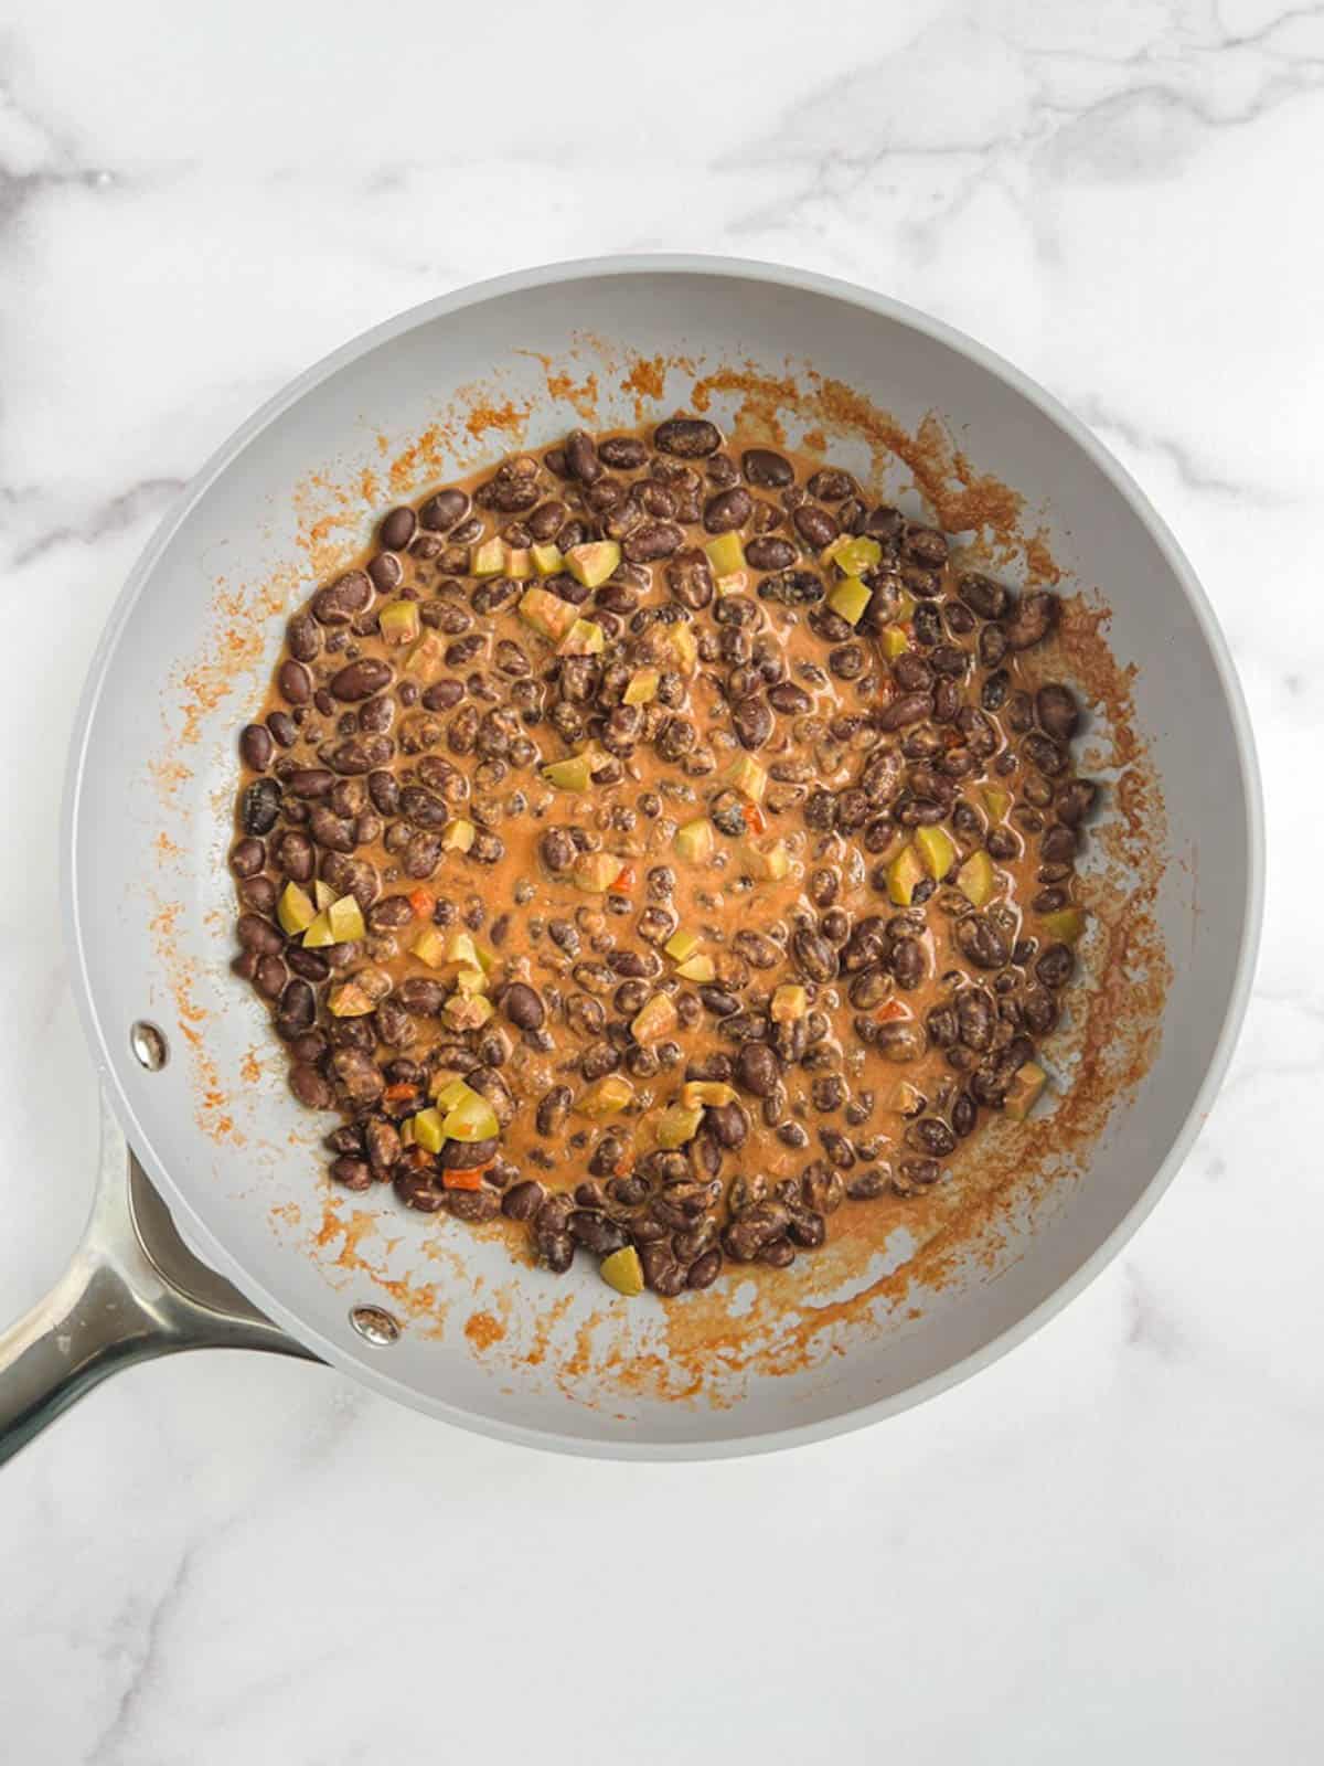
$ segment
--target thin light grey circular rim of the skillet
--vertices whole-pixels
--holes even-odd
[[[819,1418],[810,1423],[794,1423],[784,1429],[759,1429],[754,1432],[731,1432],[718,1436],[715,1439],[678,1439],[678,1441],[628,1441],[628,1439],[598,1439],[591,1436],[572,1436],[560,1434],[554,1429],[537,1429],[524,1423],[507,1422],[496,1416],[480,1415],[475,1411],[452,1406],[443,1399],[434,1399],[427,1393],[420,1393],[413,1386],[395,1379],[385,1367],[374,1367],[367,1356],[358,1356],[346,1353],[339,1344],[323,1337],[320,1332],[311,1330],[304,1319],[291,1312],[284,1302],[268,1293],[267,1287],[256,1280],[247,1268],[244,1268],[215,1238],[212,1229],[196,1213],[192,1203],[187,1199],[184,1190],[171,1180],[169,1171],[155,1151],[150,1134],[141,1123],[131,1097],[120,1084],[115,1063],[109,1056],[109,1042],[106,1035],[106,1026],[102,1024],[97,1001],[92,994],[87,957],[85,957],[85,934],[79,922],[78,911],[78,858],[79,858],[79,804],[81,804],[81,784],[85,770],[87,743],[90,736],[90,728],[97,705],[101,701],[101,692],[108,678],[108,666],[115,655],[124,627],[136,608],[139,595],[150,583],[159,558],[169,546],[175,533],[180,530],[194,505],[207,494],[212,484],[229,468],[229,464],[247,449],[247,445],[261,434],[272,422],[275,422],[286,410],[298,403],[307,392],[323,381],[330,380],[348,364],[358,360],[360,357],[378,350],[380,346],[390,343],[392,339],[417,328],[418,325],[431,323],[438,318],[445,318],[454,313],[461,313],[466,307],[480,306],[487,300],[500,298],[510,293],[523,293],[530,288],[540,288],[558,283],[577,283],[584,279],[600,277],[618,277],[618,275],[711,275],[715,279],[734,279],[734,281],[754,281],[766,283],[779,288],[801,290],[807,293],[824,295],[831,300],[839,300],[846,306],[860,307],[879,318],[890,320],[902,327],[907,327],[932,341],[946,346],[955,355],[964,357],[976,367],[983,369],[994,380],[999,380],[1020,399],[1034,406],[1043,417],[1049,419],[1057,429],[1061,429],[1096,466],[1098,472],[1114,486],[1121,494],[1135,519],[1147,532],[1155,546],[1158,547],[1165,565],[1172,572],[1176,583],[1179,585],[1186,602],[1200,627],[1204,641],[1209,646],[1213,666],[1222,687],[1223,703],[1232,724],[1232,736],[1237,754],[1237,765],[1241,774],[1241,789],[1245,798],[1245,842],[1246,842],[1246,890],[1245,901],[1241,904],[1241,925],[1236,954],[1236,968],[1232,975],[1232,985],[1229,991],[1227,1007],[1223,1012],[1223,1023],[1218,1031],[1218,1040],[1215,1044],[1213,1056],[1206,1068],[1204,1079],[1192,1098],[1192,1104],[1181,1121],[1177,1134],[1169,1146],[1167,1155],[1158,1164],[1155,1174],[1146,1183],[1140,1196],[1135,1199],[1130,1210],[1117,1220],[1112,1231],[1102,1240],[1100,1245],[1080,1263],[1077,1268],[1059,1282],[1052,1293],[1045,1294],[1034,1307],[1031,1307],[1015,1324],[999,1332],[994,1339],[983,1344],[980,1349],[971,1351],[960,1360],[953,1362],[950,1367],[930,1374],[927,1379],[918,1381],[913,1386],[899,1393],[891,1393],[886,1399],[876,1399],[867,1404],[847,1406],[831,1416]],[[833,1436],[846,1434],[856,1429],[865,1429],[886,1416],[895,1416],[900,1411],[911,1409],[916,1404],[937,1397],[941,1392],[957,1386],[959,1383],[990,1367],[1003,1355],[1013,1349],[1017,1344],[1029,1339],[1052,1317],[1056,1317],[1072,1300],[1075,1300],[1095,1277],[1117,1256],[1117,1252],[1126,1245],[1132,1234],[1140,1227],[1149,1211],[1156,1206],[1158,1199],[1163,1196],[1167,1187],[1176,1178],[1177,1171],[1186,1160],[1192,1144],[1204,1127],[1204,1121],[1213,1107],[1218,1095],[1222,1081],[1227,1074],[1236,1040],[1245,1021],[1246,1007],[1250,1001],[1252,982],[1255,975],[1255,961],[1259,954],[1262,918],[1264,918],[1264,800],[1262,800],[1262,782],[1259,772],[1259,761],[1255,754],[1255,740],[1250,724],[1250,713],[1245,703],[1241,683],[1232,662],[1227,639],[1218,625],[1218,618],[1213,611],[1209,597],[1204,592],[1192,563],[1172,535],[1170,528],[1158,514],[1158,510],[1149,503],[1135,479],[1126,472],[1126,468],[1114,459],[1109,449],[1103,447],[1096,436],[1052,394],[1040,387],[1034,380],[1024,374],[1015,364],[1008,362],[996,351],[989,350],[985,344],[969,337],[966,332],[946,325],[943,320],[936,320],[906,302],[895,300],[890,295],[877,293],[874,290],[863,288],[860,284],[842,281],[839,277],[823,275],[816,270],[789,268],[777,263],[766,263],[761,260],[749,258],[731,258],[715,254],[694,254],[694,253],[639,253],[607,258],[574,258],[558,263],[544,263],[526,270],[514,270],[505,275],[489,277],[485,281],[470,283],[464,288],[452,290],[447,295],[434,297],[433,300],[420,302],[408,307],[402,313],[383,320],[380,325],[360,332],[357,337],[341,344],[337,350],[321,357],[311,367],[297,374],[288,385],[284,385],[274,397],[261,404],[244,424],[238,426],[215,452],[203,463],[203,466],[194,473],[189,484],[175,498],[169,510],[162,516],[157,530],[145,546],[143,553],[138,556],[134,567],[131,569],[120,595],[117,597],[115,608],[106,622],[101,639],[94,650],[92,662],[88,666],[88,675],[79,694],[78,710],[74,717],[74,728],[69,742],[69,756],[65,763],[65,781],[64,796],[60,811],[60,899],[62,899],[62,925],[65,938],[65,950],[72,973],[72,991],[78,1005],[79,1021],[83,1024],[83,1033],[87,1037],[88,1047],[92,1051],[94,1063],[101,1075],[102,1088],[109,1098],[111,1109],[115,1111],[120,1125],[131,1144],[134,1146],[143,1167],[150,1174],[152,1181],[162,1194],[171,1213],[187,1226],[189,1240],[198,1249],[205,1261],[212,1263],[221,1273],[228,1275],[235,1286],[268,1317],[272,1317],[282,1330],[286,1330],[293,1339],[312,1349],[325,1362],[334,1365],[339,1372],[364,1383],[365,1386],[390,1397],[411,1409],[422,1411],[429,1416],[438,1416],[445,1422],[455,1423],[457,1427],[468,1429],[475,1434],[487,1436],[491,1439],[514,1441],[523,1446],[535,1446],[549,1452],[563,1452],[590,1459],[620,1459],[620,1460],[701,1460],[701,1459],[731,1459],[740,1455],[754,1453],[771,1453],[791,1446],[805,1446],[817,1441],[826,1441]],[[734,1406],[729,1413],[731,1418],[740,1415],[740,1406]]]

